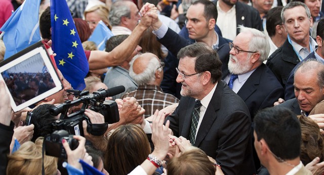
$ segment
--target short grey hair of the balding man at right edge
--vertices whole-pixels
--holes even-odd
[[[294,76],[298,70],[301,71],[301,73],[307,73],[310,70],[317,70],[317,83],[319,87],[324,88],[324,64],[317,61],[316,58],[310,58],[301,62],[295,70]]]

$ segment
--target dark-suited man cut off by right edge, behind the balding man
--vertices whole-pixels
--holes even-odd
[[[302,62],[304,62],[308,59],[316,59],[317,61],[324,64],[323,41],[324,41],[324,19],[321,19],[318,21],[317,30],[316,30],[316,42],[317,42],[318,47],[314,50],[314,52],[310,53]],[[286,82],[286,87],[285,87],[285,100],[295,98],[294,74],[295,74],[295,70],[297,69],[297,67],[299,67],[299,65],[302,62],[298,63],[289,74],[289,77]]]

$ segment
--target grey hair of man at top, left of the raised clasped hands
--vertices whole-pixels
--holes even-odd
[[[109,13],[109,21],[112,26],[120,25],[121,17],[131,18],[131,9],[125,5],[125,2],[118,1],[112,4]]]

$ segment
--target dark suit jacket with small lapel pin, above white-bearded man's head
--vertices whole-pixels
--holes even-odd
[[[213,2],[215,6],[217,1]],[[262,22],[259,12],[253,7],[241,2],[235,4],[236,11],[236,26],[243,25],[245,27],[255,28],[262,31]],[[236,28],[236,35],[239,33],[239,29]]]

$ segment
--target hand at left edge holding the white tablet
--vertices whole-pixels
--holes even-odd
[[[12,109],[10,106],[10,98],[6,91],[6,85],[4,81],[0,81],[0,123],[9,126],[11,120]]]

